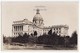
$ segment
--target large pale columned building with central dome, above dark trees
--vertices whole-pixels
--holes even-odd
[[[68,26],[67,25],[55,25],[55,26],[49,26],[45,27],[43,23],[43,18],[39,13],[39,9],[36,10],[36,15],[33,17],[33,21],[29,21],[28,19],[20,20],[20,21],[14,21],[12,24],[12,35],[18,36],[23,35],[24,33],[27,34],[34,34],[34,32],[37,32],[37,36],[48,34],[48,31],[52,29],[52,33],[55,32],[58,35],[61,36],[67,36],[68,35]]]

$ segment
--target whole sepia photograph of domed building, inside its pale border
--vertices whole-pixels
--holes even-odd
[[[3,50],[77,50],[78,2],[2,2]]]

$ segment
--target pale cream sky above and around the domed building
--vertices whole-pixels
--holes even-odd
[[[12,36],[13,21],[32,21],[36,6],[46,9],[40,11],[45,26],[68,25],[69,36],[78,31],[78,2],[3,2],[2,35]]]

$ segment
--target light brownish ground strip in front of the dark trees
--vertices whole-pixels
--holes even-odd
[[[4,44],[4,50],[77,50],[75,47],[63,47],[61,45],[42,45],[42,44],[25,44],[25,45],[10,45]]]

